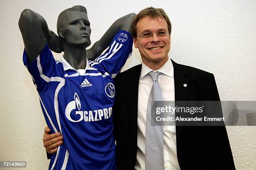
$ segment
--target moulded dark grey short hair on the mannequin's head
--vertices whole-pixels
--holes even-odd
[[[62,11],[60,14],[59,14],[59,17],[58,17],[58,20],[57,20],[57,32],[59,33],[59,30],[61,28],[63,28],[63,26],[67,23],[64,23],[64,21],[66,21],[67,19],[67,15],[69,12],[72,12],[72,11],[76,11],[76,12],[81,12],[81,13],[86,13],[87,14],[87,10],[85,7],[81,6],[81,5],[76,5],[74,7],[71,7],[71,8],[68,8],[64,11]],[[66,20],[65,20],[66,19]]]

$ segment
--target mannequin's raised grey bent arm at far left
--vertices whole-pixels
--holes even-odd
[[[33,10],[23,10],[20,14],[19,28],[30,62],[43,50],[46,40],[51,50],[61,52],[61,47],[57,47],[61,45],[59,37],[49,30],[46,20]]]

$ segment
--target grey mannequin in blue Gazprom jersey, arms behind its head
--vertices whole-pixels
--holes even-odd
[[[51,155],[49,169],[116,169],[113,77],[131,54],[129,32],[135,15],[116,20],[86,50],[91,44],[91,28],[85,7],[74,6],[59,14],[58,35],[49,30],[40,14],[29,9],[21,13],[23,62],[38,90],[47,125],[65,140]],[[61,62],[54,60],[49,49],[64,51]],[[97,61],[88,62],[96,57]]]

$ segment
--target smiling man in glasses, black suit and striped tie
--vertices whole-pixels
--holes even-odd
[[[118,112],[114,116],[118,169],[235,169],[225,126],[150,124],[151,101],[220,98],[211,73],[170,59],[172,25],[163,9],[141,10],[131,27],[142,64],[115,78],[113,111]],[[127,80],[132,83],[124,83]]]

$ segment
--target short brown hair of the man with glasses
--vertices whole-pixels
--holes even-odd
[[[164,12],[164,10],[162,8],[155,8],[155,7],[147,7],[143,10],[141,10],[133,19],[133,22],[131,24],[131,35],[132,37],[136,37],[137,36],[137,29],[136,29],[136,25],[139,22],[139,20],[141,20],[144,17],[150,17],[151,19],[154,18],[162,18],[165,19],[168,25],[168,32],[172,32],[172,24],[171,21],[169,20],[167,14]],[[169,34],[169,35],[170,35]]]

